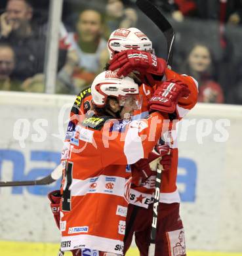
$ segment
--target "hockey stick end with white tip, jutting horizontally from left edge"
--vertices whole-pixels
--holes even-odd
[[[43,179],[35,181],[0,181],[1,186],[35,186],[35,185],[48,185],[62,177],[62,165],[58,165],[50,175]]]

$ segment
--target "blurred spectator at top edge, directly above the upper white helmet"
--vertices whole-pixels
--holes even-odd
[[[136,26],[138,16],[136,11],[132,8],[125,8],[123,1],[121,0],[107,0],[106,1],[106,25],[108,30],[106,31],[106,38],[110,33],[117,28],[132,28]]]

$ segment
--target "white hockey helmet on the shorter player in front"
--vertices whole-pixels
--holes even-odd
[[[98,108],[105,106],[108,96],[119,100],[119,105],[124,106],[127,98],[135,100],[137,109],[141,106],[138,85],[131,77],[118,77],[117,72],[104,71],[96,76],[91,86],[92,103]],[[131,97],[129,97],[131,96]]]

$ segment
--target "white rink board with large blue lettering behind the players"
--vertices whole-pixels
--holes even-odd
[[[75,96],[66,95],[0,92],[1,180],[36,179],[50,173],[62,150],[66,121],[74,99]],[[64,105],[66,111],[60,112]],[[186,141],[179,142],[178,170],[187,247],[242,251],[242,106],[197,104],[188,118],[195,119],[195,125],[188,128]],[[18,119],[24,119],[20,121],[20,130],[16,129]],[[201,119],[211,119],[212,127],[211,133],[199,144],[197,127],[208,123]],[[220,135],[215,127],[218,119],[230,121],[230,127],[225,127],[229,133],[226,142],[214,141],[214,135]],[[24,148],[14,139],[24,135],[23,123],[26,139],[21,145],[25,144]],[[204,132],[206,127],[203,128]],[[182,123],[179,130],[182,134],[179,133],[178,138],[184,140]],[[0,240],[59,241],[46,196],[52,187],[0,189]]]

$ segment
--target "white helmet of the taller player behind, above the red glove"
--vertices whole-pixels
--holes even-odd
[[[118,28],[113,31],[108,39],[108,51],[110,60],[114,53],[136,49],[153,53],[152,42],[138,28]]]

